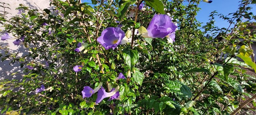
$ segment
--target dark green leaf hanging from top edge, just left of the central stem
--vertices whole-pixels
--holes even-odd
[[[126,11],[128,10],[130,5],[133,5],[136,2],[136,0],[127,0],[127,1],[122,1],[120,0],[118,3],[118,16],[119,19],[122,19]]]

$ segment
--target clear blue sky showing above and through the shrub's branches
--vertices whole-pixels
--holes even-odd
[[[170,1],[170,0],[168,0]],[[212,0],[212,3],[206,3],[206,2],[200,2],[200,4],[198,5],[199,8],[201,8],[201,10],[197,13],[196,19],[199,22],[203,22],[205,25],[206,22],[208,22],[208,20],[210,19],[210,17],[208,17],[210,15],[210,13],[214,10],[217,10],[217,12],[219,14],[223,14],[223,15],[228,15],[229,13],[234,13],[235,11],[237,11],[237,9],[239,8],[239,1],[240,0]],[[82,0],[82,2],[88,2],[88,3],[92,3],[91,0]],[[188,4],[186,2],[184,2],[184,4]],[[250,5],[251,7],[253,7],[253,9],[251,10],[251,12],[253,12],[253,14],[256,14],[256,6],[255,5]],[[229,24],[227,21],[224,21],[223,19],[219,19],[219,17],[215,17],[215,26],[219,27],[219,28],[228,28]]]

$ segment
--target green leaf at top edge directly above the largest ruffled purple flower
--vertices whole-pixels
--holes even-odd
[[[164,14],[164,4],[160,0],[145,0],[147,6],[155,9],[156,12]]]

